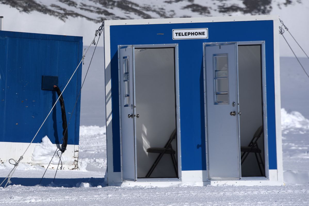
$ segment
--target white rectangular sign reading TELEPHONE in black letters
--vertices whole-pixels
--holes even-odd
[[[208,39],[208,28],[173,29],[173,39]]]

